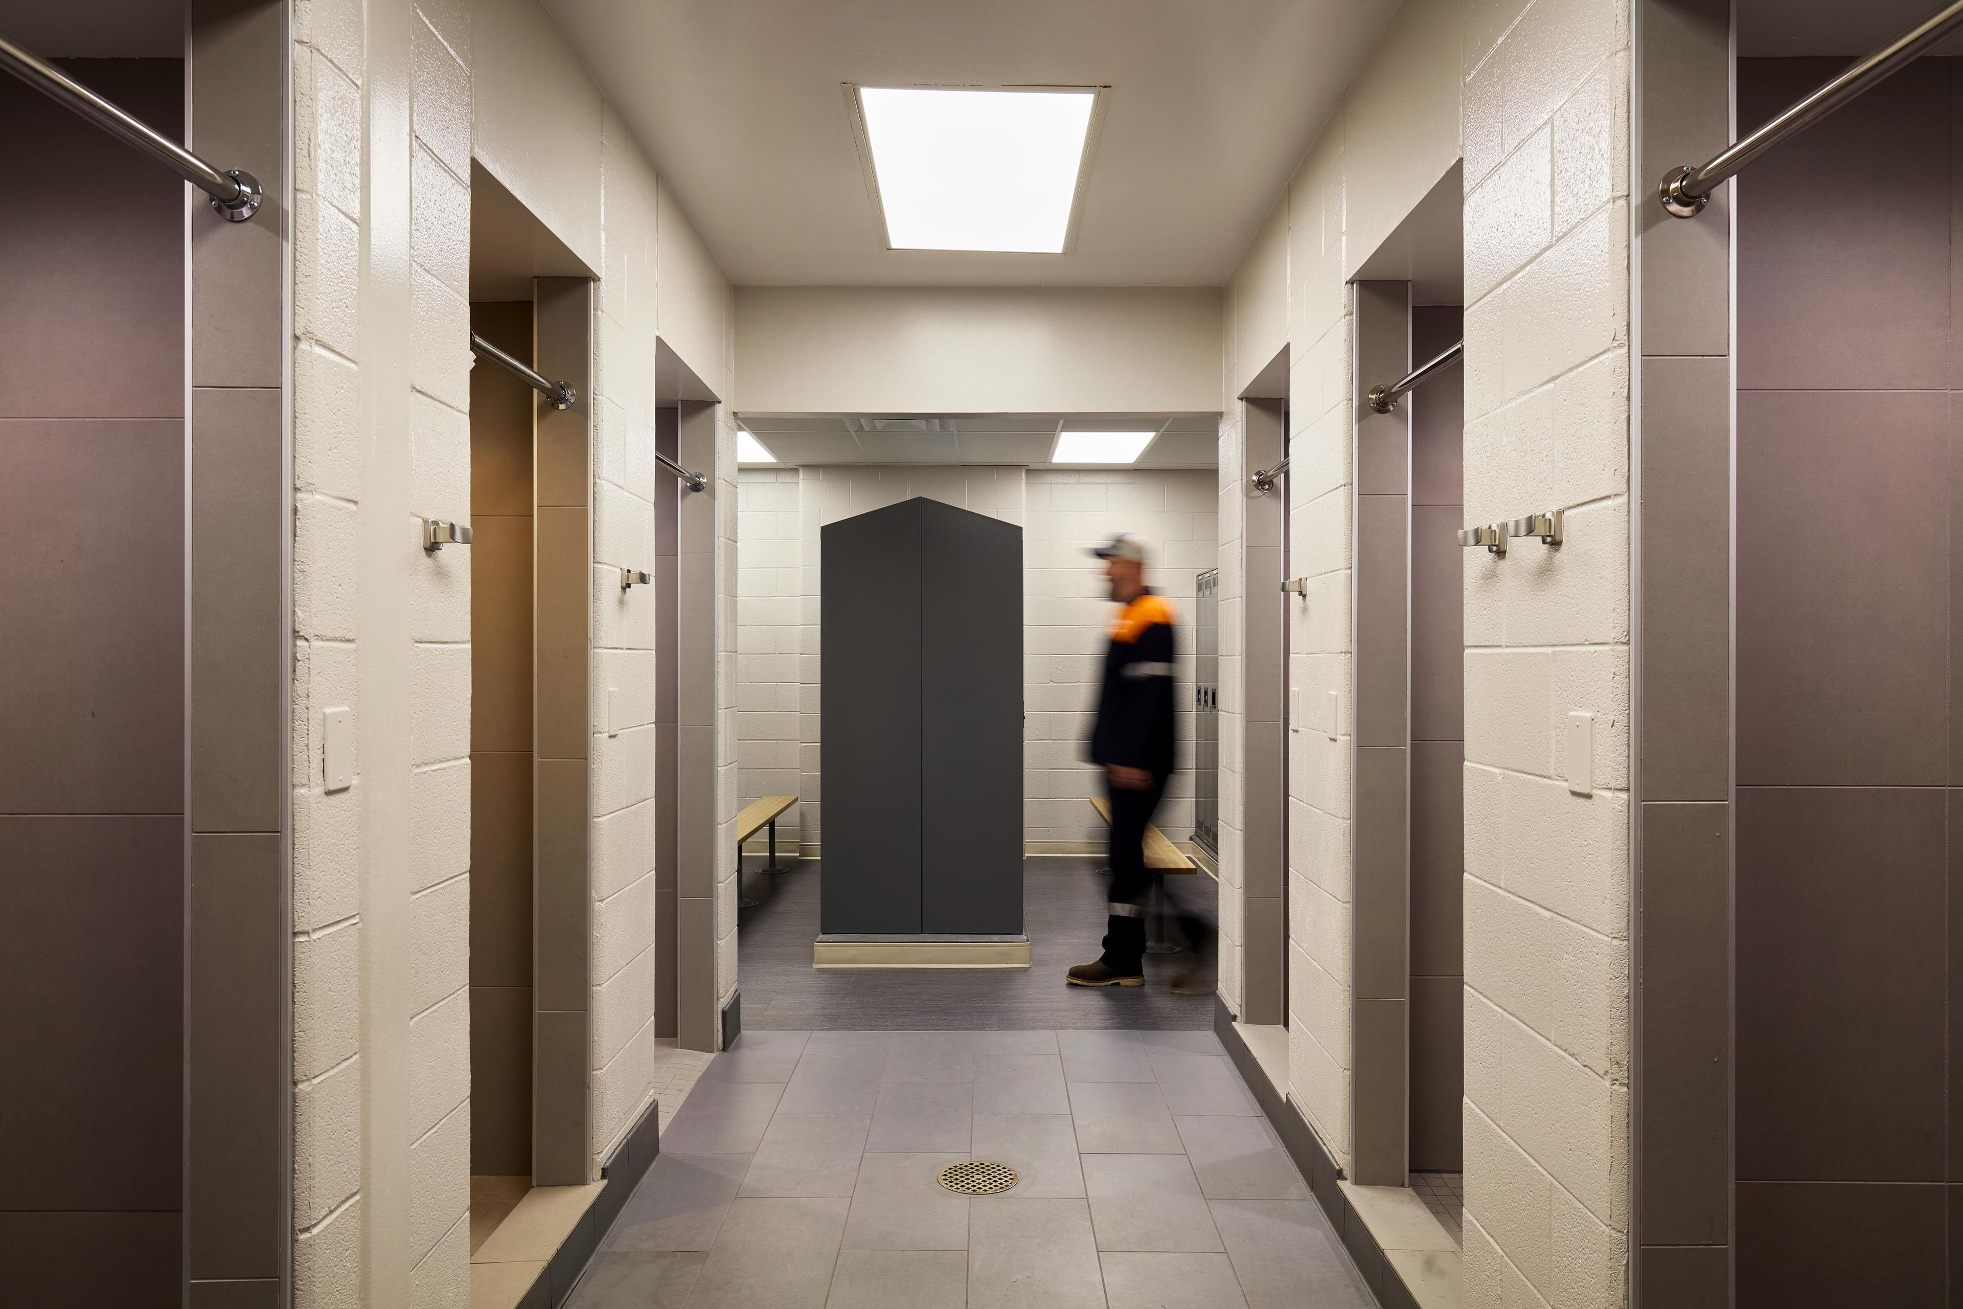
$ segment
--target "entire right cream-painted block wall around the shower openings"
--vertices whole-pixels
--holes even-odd
[[[1290,1097],[1351,1140],[1354,495],[1349,279],[1464,159],[1466,522],[1566,508],[1568,544],[1466,567],[1464,1303],[1625,1299],[1629,1193],[1629,12],[1623,0],[1419,0],[1392,22],[1229,285],[1221,440],[1223,885],[1241,887],[1245,752],[1229,612],[1247,522],[1237,400],[1288,345],[1292,685],[1341,693],[1292,734]],[[1286,290],[1286,294],[1278,292]],[[1278,308],[1282,306],[1282,308]],[[1596,714],[1596,793],[1559,728]],[[1223,895],[1221,995],[1241,1013]]]

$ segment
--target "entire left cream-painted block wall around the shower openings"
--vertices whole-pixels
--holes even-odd
[[[469,551],[426,555],[418,518],[469,520],[473,155],[601,273],[589,622],[593,685],[626,683],[628,712],[614,736],[593,718],[591,1176],[652,1099],[654,626],[618,567],[654,563],[656,336],[730,394],[730,290],[532,0],[310,0],[291,59],[294,1303],[461,1305]],[[709,618],[734,642],[734,436],[711,430]],[[332,795],[330,705],[357,724]],[[732,732],[718,748],[726,822]],[[734,907],[716,918],[705,1007],[734,991]]]

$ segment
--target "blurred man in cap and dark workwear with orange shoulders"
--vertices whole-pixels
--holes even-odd
[[[1091,763],[1105,771],[1111,799],[1111,895],[1103,956],[1070,969],[1070,985],[1144,985],[1144,828],[1172,775],[1172,687],[1178,646],[1172,606],[1144,585],[1144,542],[1117,534],[1091,551],[1105,561],[1111,599],[1125,608],[1111,624]]]

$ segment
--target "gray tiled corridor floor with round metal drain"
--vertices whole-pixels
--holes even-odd
[[[1011,1164],[1007,1195],[934,1181]],[[766,1032],[716,1056],[573,1309],[1364,1309],[1211,1032]]]

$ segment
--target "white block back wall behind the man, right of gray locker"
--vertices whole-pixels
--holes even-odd
[[[1105,826],[1089,807],[1103,787],[1084,761],[1089,712],[1103,677],[1111,601],[1089,548],[1115,532],[1152,546],[1148,581],[1180,616],[1178,773],[1158,828],[1194,832],[1194,579],[1219,557],[1217,495],[1209,471],[1031,469],[1023,498],[1025,840],[1038,848],[1101,850]]]

